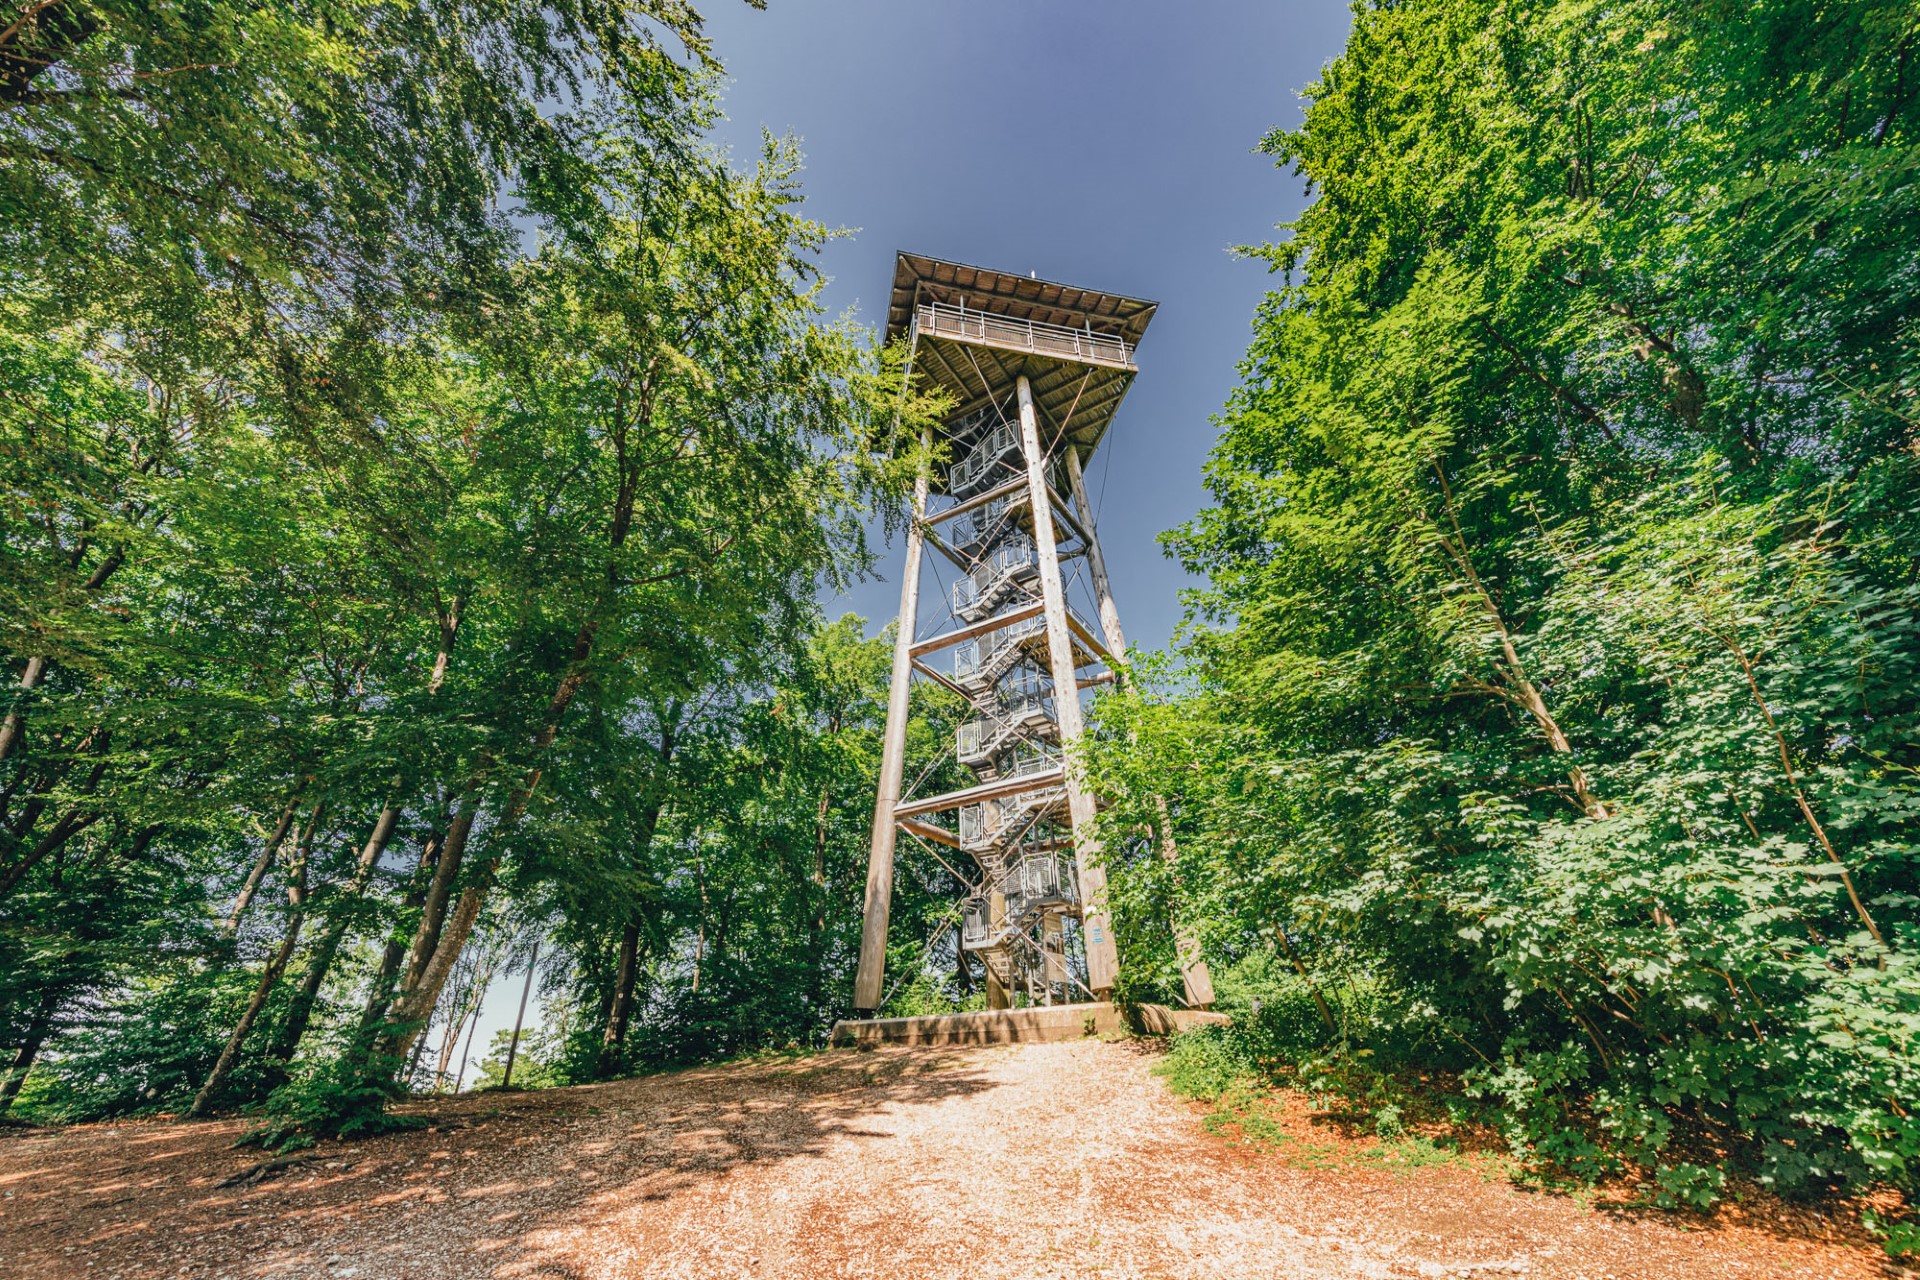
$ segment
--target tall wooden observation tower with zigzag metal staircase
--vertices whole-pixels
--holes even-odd
[[[1085,470],[1152,317],[1139,297],[897,259],[887,340],[906,338],[908,376],[945,388],[958,409],[939,428],[947,461],[920,476],[906,537],[854,981],[862,1013],[881,1004],[900,831],[970,856],[960,946],[985,961],[989,1007],[1104,1000],[1114,986],[1096,800],[1062,748],[1081,733],[1083,691],[1110,683],[1127,652]],[[920,589],[929,555],[941,580],[931,601]],[[900,794],[916,676],[968,700],[954,752],[975,785]],[[1177,940],[1187,1002],[1206,1007],[1206,963]]]

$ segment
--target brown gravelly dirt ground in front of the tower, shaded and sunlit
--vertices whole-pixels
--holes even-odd
[[[1905,1274],[1812,1217],[1676,1221],[1212,1132],[1133,1044],[833,1052],[444,1100],[269,1180],[232,1123],[0,1138],[0,1276]]]

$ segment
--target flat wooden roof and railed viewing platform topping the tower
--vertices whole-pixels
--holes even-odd
[[[998,403],[1025,374],[1050,432],[1092,453],[1139,370],[1133,347],[1158,303],[1125,294],[899,253],[887,342],[912,334],[914,372],[958,413]]]

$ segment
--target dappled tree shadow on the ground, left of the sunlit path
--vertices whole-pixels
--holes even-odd
[[[88,1125],[0,1142],[0,1276],[549,1276],[541,1242],[678,1217],[745,1167],[885,1140],[876,1117],[995,1084],[941,1052],[831,1052],[534,1094],[438,1100],[432,1128],[326,1144],[257,1186],[236,1121]],[[712,1222],[710,1226],[720,1226]]]

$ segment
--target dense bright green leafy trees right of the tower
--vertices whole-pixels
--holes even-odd
[[[1916,1186],[1916,35],[1356,12],[1265,140],[1313,203],[1165,535],[1206,587],[1102,700],[1116,833],[1181,779],[1135,981],[1171,898],[1246,1061],[1446,1067],[1674,1201]]]

